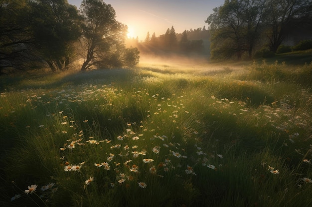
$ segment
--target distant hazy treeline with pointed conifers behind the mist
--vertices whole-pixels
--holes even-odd
[[[128,44],[137,47],[142,54],[153,55],[208,55],[209,31],[203,28],[184,30],[183,33],[175,33],[172,26],[162,35],[156,37],[155,32],[147,33],[144,41],[137,39],[128,40]]]

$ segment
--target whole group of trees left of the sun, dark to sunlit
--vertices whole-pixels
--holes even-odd
[[[81,70],[133,66],[137,48],[127,48],[127,26],[103,0],[0,1],[0,73],[5,69]]]

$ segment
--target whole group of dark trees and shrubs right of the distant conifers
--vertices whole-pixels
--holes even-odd
[[[289,36],[312,38],[311,0],[225,0],[213,11],[205,21],[212,59],[250,59],[276,53]]]

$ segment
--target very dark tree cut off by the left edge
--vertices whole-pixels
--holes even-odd
[[[6,68],[27,69],[32,59],[29,48],[30,6],[25,0],[0,2],[0,73]]]

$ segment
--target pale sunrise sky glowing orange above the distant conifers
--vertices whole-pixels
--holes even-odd
[[[79,9],[82,0],[68,0]],[[104,0],[116,11],[116,20],[128,26],[128,37],[139,37],[144,41],[147,33],[156,37],[167,28],[174,27],[176,33],[208,26],[204,21],[213,8],[224,0]]]

